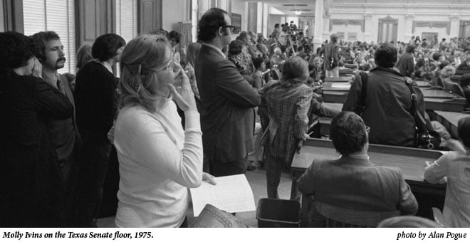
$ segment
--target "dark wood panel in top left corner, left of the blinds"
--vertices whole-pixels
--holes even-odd
[[[23,0],[1,0],[4,31],[24,32]]]

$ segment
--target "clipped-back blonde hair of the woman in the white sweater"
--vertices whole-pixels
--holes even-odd
[[[125,105],[142,105],[155,112],[156,92],[160,88],[156,69],[164,65],[167,51],[171,51],[171,45],[160,34],[142,34],[125,46],[118,85],[120,108]]]

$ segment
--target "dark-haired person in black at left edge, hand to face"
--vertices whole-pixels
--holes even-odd
[[[65,184],[46,120],[72,117],[68,98],[42,78],[36,46],[0,33],[0,227],[60,227]]]

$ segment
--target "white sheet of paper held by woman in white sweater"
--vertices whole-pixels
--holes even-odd
[[[206,204],[229,213],[256,210],[253,191],[244,174],[216,177],[214,180],[215,186],[202,182],[198,188],[190,189],[194,216],[199,216]]]

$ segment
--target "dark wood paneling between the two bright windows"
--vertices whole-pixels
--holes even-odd
[[[112,0],[75,1],[77,48],[83,43],[93,43],[104,33],[115,32],[115,2]]]

